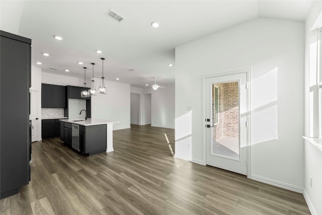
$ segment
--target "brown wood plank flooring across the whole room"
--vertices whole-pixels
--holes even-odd
[[[304,197],[175,159],[174,130],[114,131],[114,152],[86,157],[59,138],[32,144],[31,182],[1,214],[310,214]]]

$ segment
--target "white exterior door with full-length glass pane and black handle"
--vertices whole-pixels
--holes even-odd
[[[247,72],[205,80],[206,164],[247,175]]]

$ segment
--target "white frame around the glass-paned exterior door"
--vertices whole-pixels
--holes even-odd
[[[229,76],[229,75],[237,75],[237,74],[246,74],[247,76],[247,177],[251,178],[252,168],[251,168],[251,68],[239,69],[234,71],[227,71],[224,73],[218,73],[213,75],[207,75],[202,77],[202,118],[203,118],[203,126],[202,126],[202,164],[206,165],[206,90],[208,86],[206,85],[207,79],[221,77],[221,76]]]

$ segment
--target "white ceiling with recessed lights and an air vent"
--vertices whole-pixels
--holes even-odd
[[[175,47],[254,18],[304,21],[312,1],[0,1],[1,30],[32,39],[32,65],[135,87],[175,82]],[[114,10],[125,19],[107,17]],[[152,21],[159,28],[152,28]],[[54,39],[60,35],[63,40]],[[96,50],[102,50],[102,54]],[[43,56],[47,52],[50,56]],[[42,65],[36,64],[37,61]],[[77,61],[83,61],[79,65]],[[169,67],[172,63],[174,66]],[[57,70],[49,69],[57,68]],[[67,73],[64,70],[68,68]],[[128,69],[135,69],[129,71]]]

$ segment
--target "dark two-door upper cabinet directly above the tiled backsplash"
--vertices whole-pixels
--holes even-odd
[[[42,108],[65,108],[66,88],[59,85],[41,85]]]

